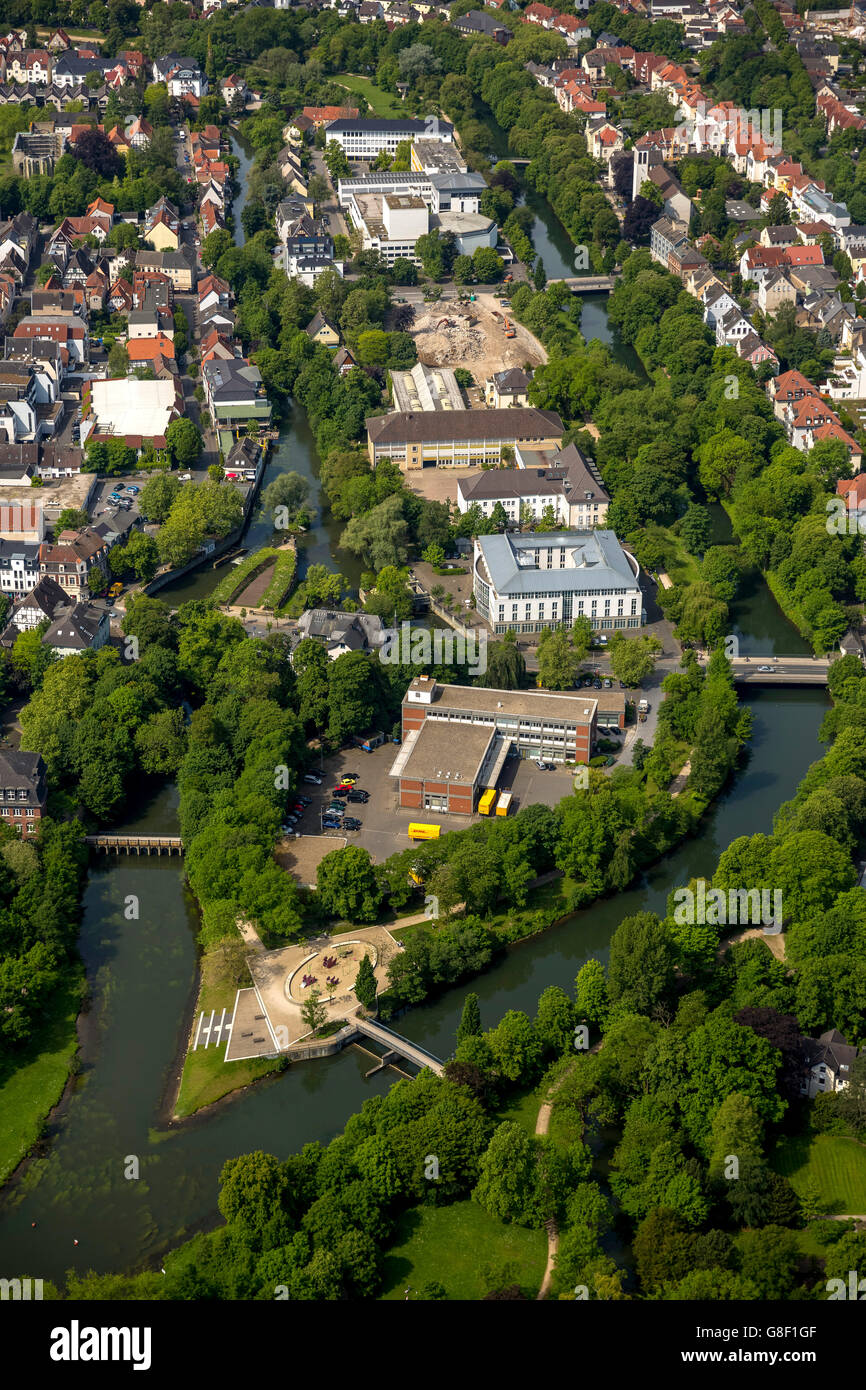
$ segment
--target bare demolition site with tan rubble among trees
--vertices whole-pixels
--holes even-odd
[[[463,367],[480,384],[506,367],[538,367],[548,360],[538,339],[493,295],[477,295],[463,303],[438,299],[418,304],[409,332],[418,361],[430,367]]]

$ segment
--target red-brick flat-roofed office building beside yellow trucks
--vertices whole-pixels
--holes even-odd
[[[403,698],[403,744],[391,769],[399,805],[471,816],[514,752],[588,763],[596,713],[588,695],[442,685],[417,676]]]

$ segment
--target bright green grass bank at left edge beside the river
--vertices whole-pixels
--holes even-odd
[[[78,1048],[75,1019],[82,976],[67,980],[28,1045],[0,1069],[0,1183],[39,1138],[42,1122],[63,1095]]]

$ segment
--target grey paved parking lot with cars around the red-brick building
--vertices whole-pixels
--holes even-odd
[[[332,848],[338,849],[343,844],[356,844],[370,852],[375,863],[384,863],[389,855],[409,847],[409,824],[413,820],[435,820],[442,830],[463,830],[481,816],[450,816],[446,813],[410,810],[398,806],[396,783],[389,773],[398,755],[396,744],[384,744],[371,753],[363,749],[345,749],[334,758],[325,758],[321,763],[324,780],[321,787],[304,784],[300,794],[310,796],[311,805],[296,826],[296,833],[302,835],[320,834],[321,812],[334,799],[334,788],[343,773],[357,773],[356,787],[370,792],[366,805],[346,803],[346,813],[356,816],[361,821],[361,828],[343,834],[332,830],[324,838],[332,841]],[[318,770],[318,769],[314,769]],[[573,791],[574,771],[566,767],[556,767],[552,771],[541,771],[531,759],[510,758],[505,764],[499,778],[500,791],[514,794],[513,808],[531,806],[541,802],[545,806],[556,806],[563,796]],[[345,799],[345,798],[341,798]]]

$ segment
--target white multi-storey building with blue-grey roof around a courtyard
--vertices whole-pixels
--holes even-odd
[[[644,623],[639,566],[613,531],[549,531],[475,539],[475,607],[493,632],[541,632],[584,614],[595,631]]]

